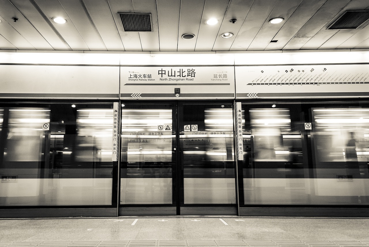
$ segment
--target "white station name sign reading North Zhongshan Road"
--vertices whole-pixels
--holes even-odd
[[[234,67],[121,67],[121,98],[234,98]],[[178,92],[175,91],[179,90]]]

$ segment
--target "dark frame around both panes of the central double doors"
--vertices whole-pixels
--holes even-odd
[[[175,133],[175,143],[172,145],[172,153],[175,153],[175,158],[172,159],[175,164],[173,165],[172,170],[172,190],[173,190],[173,204],[120,204],[120,196],[121,196],[121,169],[118,169],[118,194],[117,194],[117,216],[127,216],[127,215],[189,215],[189,214],[199,214],[199,215],[239,215],[239,201],[238,201],[238,169],[237,169],[237,158],[234,155],[234,179],[235,179],[235,194],[236,194],[236,203],[230,204],[230,206],[224,205],[211,205],[211,204],[202,204],[196,205],[191,207],[183,207],[181,206],[183,193],[183,171],[181,170],[182,167],[182,160],[181,160],[181,148],[180,148],[180,120],[179,120],[179,108],[183,104],[193,104],[193,105],[203,105],[203,104],[230,104],[232,105],[232,115],[233,115],[233,139],[235,133],[235,119],[234,119],[234,100],[199,100],[199,101],[165,101],[165,100],[139,100],[139,101],[131,101],[131,100],[120,100],[120,105],[123,104],[132,104],[132,105],[142,105],[145,104],[152,104],[152,105],[170,105],[172,109],[172,126],[173,132]],[[144,109],[144,108],[142,108]],[[120,111],[120,120],[122,119],[122,112],[123,108]],[[175,119],[173,119],[175,118]],[[174,128],[175,126],[175,128]],[[122,133],[122,121],[120,123],[120,133]],[[119,161],[118,166],[121,168],[121,150],[122,150],[122,143],[121,138],[119,143]],[[235,143],[233,143],[233,148],[235,150]],[[173,149],[176,149],[173,151]],[[182,209],[182,210],[181,210]]]

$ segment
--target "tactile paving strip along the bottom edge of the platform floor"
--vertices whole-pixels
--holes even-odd
[[[0,243],[0,247],[369,247],[369,241],[131,240]]]

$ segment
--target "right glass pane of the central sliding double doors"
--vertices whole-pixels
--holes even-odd
[[[182,112],[183,203],[235,204],[232,105],[186,104]]]

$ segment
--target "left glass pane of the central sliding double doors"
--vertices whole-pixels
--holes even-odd
[[[175,135],[167,107],[122,109],[121,204],[173,203]]]

